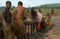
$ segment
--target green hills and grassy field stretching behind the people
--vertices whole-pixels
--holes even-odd
[[[41,6],[35,6],[35,7],[31,7],[33,9],[41,9],[42,13],[45,15],[46,13],[51,13],[51,9],[52,7],[54,8],[55,13],[60,13],[60,3],[55,3],[55,4],[45,4],[45,5],[41,5]],[[0,16],[2,14],[2,11],[4,10],[4,6],[0,7]],[[12,6],[11,10],[13,10],[15,7]],[[27,12],[29,12],[29,9],[31,8],[26,8]]]

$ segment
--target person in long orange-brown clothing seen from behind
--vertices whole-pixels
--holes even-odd
[[[17,39],[24,39],[25,30],[23,23],[27,17],[27,13],[21,1],[18,2],[18,6],[13,10],[12,16],[13,16],[14,34],[16,35]]]

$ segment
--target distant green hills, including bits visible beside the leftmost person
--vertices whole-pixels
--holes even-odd
[[[44,4],[44,5],[41,5],[41,6],[35,6],[35,7],[31,7],[31,8],[36,8],[36,9],[39,9],[39,8],[56,8],[56,9],[60,9],[60,3],[52,3],[52,4]],[[5,7],[1,7],[0,6],[0,10],[3,10]],[[15,7],[12,6],[11,7],[11,10],[13,10]],[[26,8],[26,9],[29,9],[29,8]]]

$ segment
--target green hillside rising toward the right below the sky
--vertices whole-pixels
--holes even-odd
[[[35,7],[32,7],[32,8],[36,8],[36,9],[39,9],[39,8],[56,8],[56,9],[60,9],[60,3],[53,3],[53,4],[44,4],[44,5],[41,5],[41,6],[35,6]]]

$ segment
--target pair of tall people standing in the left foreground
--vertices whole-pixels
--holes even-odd
[[[6,8],[3,11],[3,32],[4,39],[16,39],[14,35],[17,36],[17,39],[24,39],[24,26],[23,21],[27,18],[26,10],[23,7],[23,3],[21,1],[18,2],[18,6],[12,11],[10,11],[11,2],[6,2]],[[13,35],[14,33],[14,35]],[[21,35],[21,36],[20,36]],[[19,38],[19,36],[21,38]]]

